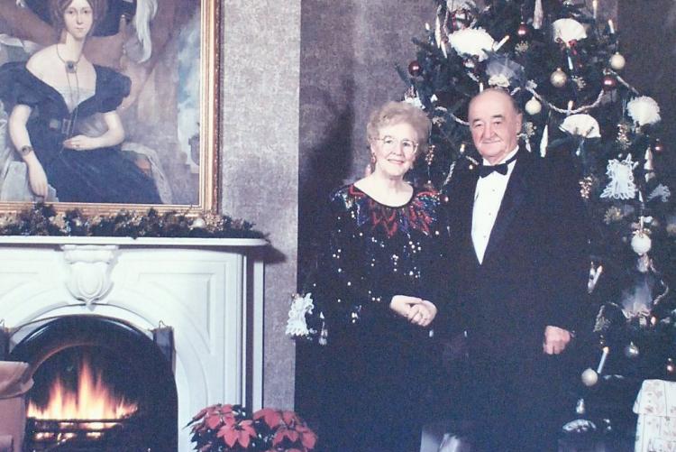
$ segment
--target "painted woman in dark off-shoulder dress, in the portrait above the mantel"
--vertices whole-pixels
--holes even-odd
[[[47,198],[53,187],[61,202],[159,204],[155,182],[120,147],[124,128],[116,109],[130,79],[83,53],[105,5],[50,0],[59,41],[0,68],[10,138],[36,196]]]

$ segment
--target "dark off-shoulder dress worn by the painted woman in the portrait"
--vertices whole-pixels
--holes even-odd
[[[72,112],[59,91],[36,78],[23,62],[0,67],[0,99],[7,114],[16,104],[32,108],[26,128],[59,201],[160,204],[151,177],[124,157],[120,145],[90,151],[63,147],[64,140],[83,134],[81,126],[92,115],[114,111],[129,94],[129,78],[113,69],[96,65],[94,69],[94,96],[82,101]]]

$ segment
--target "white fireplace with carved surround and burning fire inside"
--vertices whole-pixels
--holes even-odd
[[[34,372],[26,450],[187,452],[203,407],[259,409],[265,244],[0,237],[9,359]]]

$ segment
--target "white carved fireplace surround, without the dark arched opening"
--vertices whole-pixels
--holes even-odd
[[[178,451],[203,407],[257,410],[263,382],[262,239],[0,236],[0,320],[68,315],[174,329]],[[12,337],[17,344],[31,327]]]

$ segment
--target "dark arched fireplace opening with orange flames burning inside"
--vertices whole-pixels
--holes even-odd
[[[126,322],[67,316],[36,327],[10,359],[31,365],[28,452],[171,452],[178,442],[172,356]]]

